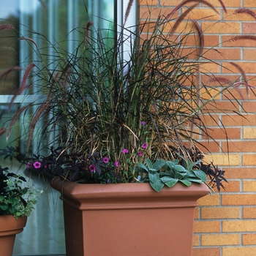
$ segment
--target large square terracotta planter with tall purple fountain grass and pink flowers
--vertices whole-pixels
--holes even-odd
[[[68,256],[191,255],[196,200],[209,184],[220,189],[226,181],[224,171],[203,162],[197,138],[210,136],[203,116],[211,117],[208,106],[237,81],[214,88],[197,79],[203,32],[196,21],[187,34],[176,29],[202,1],[173,18],[187,2],[119,33],[88,22],[72,52],[47,41],[56,50],[47,58],[22,38],[39,61],[24,72],[20,93],[34,87],[41,100],[20,108],[2,134],[9,137],[18,116],[36,108],[26,140],[31,146],[36,136],[38,151],[24,162],[59,176],[52,186],[64,201]],[[199,45],[187,48],[195,32]]]

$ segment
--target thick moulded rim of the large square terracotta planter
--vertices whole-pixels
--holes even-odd
[[[197,199],[209,192],[206,184],[192,184],[187,187],[178,183],[156,192],[148,183],[77,184],[59,177],[53,178],[51,186],[61,192],[61,199],[65,203],[88,210],[195,207]]]

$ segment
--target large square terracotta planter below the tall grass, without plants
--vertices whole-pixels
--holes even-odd
[[[192,255],[194,210],[205,184],[76,184],[56,178],[67,256]]]

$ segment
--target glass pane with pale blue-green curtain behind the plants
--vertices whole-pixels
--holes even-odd
[[[15,30],[0,31],[0,127],[6,126],[19,108],[28,104],[31,99],[26,94],[37,94],[37,87],[23,91],[23,96],[16,98],[9,110],[7,102],[16,94],[22,83],[26,67],[31,63],[37,65],[26,85],[37,84],[37,72],[43,68],[42,61],[54,72],[52,62],[61,54],[72,53],[84,37],[86,24],[90,20],[95,29],[110,29],[113,31],[115,0],[0,0],[0,26],[11,24]],[[113,38],[113,35],[111,35]],[[49,44],[51,45],[49,47]],[[55,48],[55,50],[53,50]],[[37,49],[42,53],[38,56]],[[21,67],[22,69],[20,70]],[[47,74],[48,75],[48,74]],[[4,96],[4,97],[3,97]],[[31,115],[33,113],[28,113]],[[20,121],[23,124],[23,120]],[[0,149],[7,146],[17,146],[20,154],[24,153],[26,145],[18,145],[18,138],[24,127],[12,129],[8,142],[5,136],[0,137]],[[34,138],[36,141],[36,138]],[[23,233],[16,236],[14,255],[64,255],[64,223],[62,202],[58,192],[49,187],[49,180],[29,173],[25,167],[20,167],[17,161],[10,161],[0,156],[0,165],[8,166],[15,172],[20,172],[30,178],[31,184],[37,189],[45,190],[45,195],[39,198],[36,210],[28,218]]]

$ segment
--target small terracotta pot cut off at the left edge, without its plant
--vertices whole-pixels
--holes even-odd
[[[12,256],[16,234],[23,231],[27,217],[0,216],[0,255]]]

